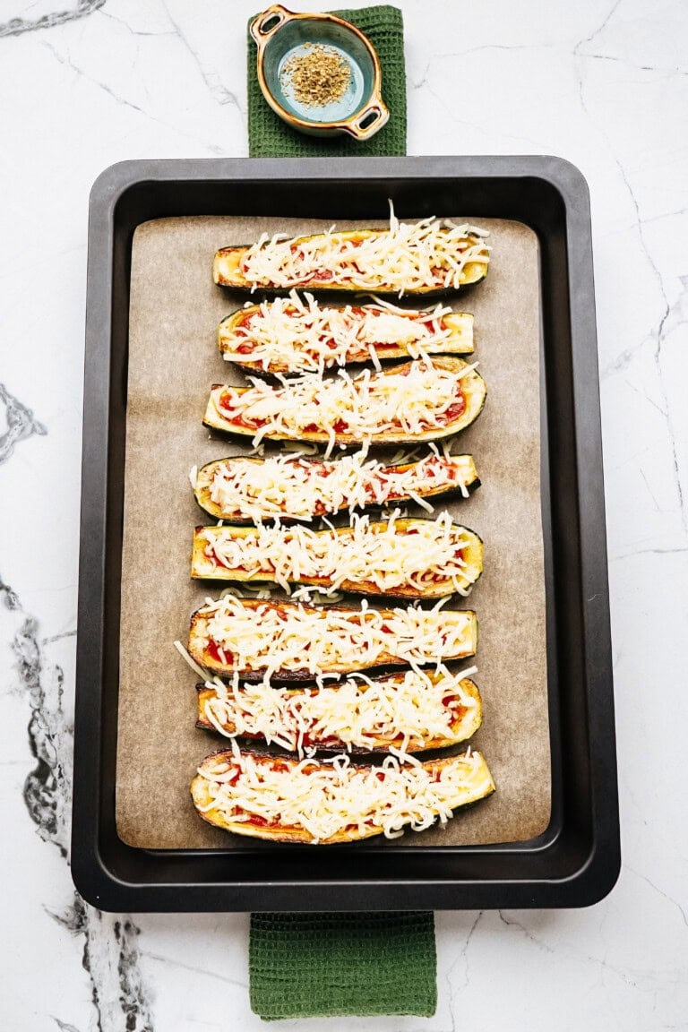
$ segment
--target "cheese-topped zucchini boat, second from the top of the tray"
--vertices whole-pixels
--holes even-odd
[[[467,355],[473,317],[437,304],[424,312],[375,304],[328,308],[313,294],[251,304],[220,323],[222,357],[242,369],[275,376],[419,355]]]

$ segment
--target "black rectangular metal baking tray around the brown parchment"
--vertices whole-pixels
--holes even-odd
[[[245,215],[520,221],[540,261],[542,504],[552,816],[536,839],[386,849],[126,845],[114,816],[127,349],[134,230]],[[84,398],[72,874],[105,910],[584,906],[620,865],[588,191],[550,157],[133,161],[94,185]]]

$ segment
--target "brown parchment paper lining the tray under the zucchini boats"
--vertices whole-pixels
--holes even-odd
[[[118,831],[133,846],[245,849],[258,843],[210,828],[193,808],[189,784],[196,767],[228,740],[195,728],[197,679],[172,646],[174,639],[186,644],[191,612],[220,593],[217,585],[189,577],[193,527],[210,521],[196,506],[189,471],[241,450],[210,440],[201,425],[210,384],[242,381],[222,360],[216,332],[245,295],[216,287],[210,269],[219,247],[251,243],[262,231],[296,235],[327,225],[160,219],[134,236],[117,769]],[[408,832],[389,848],[522,841],[545,831],[550,817],[537,240],[521,223],[488,219],[481,225],[491,233],[489,275],[450,303],[474,314],[474,357],[488,387],[483,414],[453,447],[474,455],[482,487],[448,508],[485,541],[483,577],[458,606],[478,612],[476,680],[485,713],[471,744],[484,751],[497,792],[459,810],[446,830]]]

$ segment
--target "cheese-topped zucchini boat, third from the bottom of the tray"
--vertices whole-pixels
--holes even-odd
[[[436,666],[476,654],[472,610],[370,609],[226,594],[191,617],[189,654],[212,674],[313,681],[322,674]]]

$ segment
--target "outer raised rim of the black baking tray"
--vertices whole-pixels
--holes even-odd
[[[601,465],[601,426],[597,370],[594,288],[589,195],[581,172],[569,162],[549,156],[473,156],[431,158],[351,158],[346,164],[351,181],[435,178],[536,179],[554,187],[562,198],[566,221],[571,364],[576,415],[586,427],[576,436],[578,498],[580,502],[580,574],[585,600],[583,643],[587,672],[589,763],[592,823],[595,832],[590,851],[578,868],[563,878],[499,879],[484,882],[445,880],[345,882],[343,900],[333,901],[333,882],[140,883],[124,880],[110,870],[101,853],[97,788],[100,783],[102,706],[93,683],[93,634],[102,630],[105,579],[106,469],[103,452],[108,443],[109,376],[100,376],[101,362],[109,362],[111,346],[110,303],[116,276],[113,230],[116,208],[126,192],[140,184],[170,182],[209,183],[250,181],[269,183],[276,174],[284,181],[327,181],[338,176],[328,159],[169,159],[125,161],[106,168],[95,181],[90,197],[87,326],[85,357],[84,452],[81,497],[81,553],[79,557],[79,611],[77,635],[74,796],[72,820],[72,876],[81,895],[101,909],[129,910],[245,910],[245,909],[406,909],[419,906],[441,909],[504,906],[582,906],[601,899],[613,888],[620,869],[618,788],[612,689],[612,653],[607,580],[607,544]],[[146,220],[141,220],[141,222]],[[525,221],[525,220],[524,220]],[[106,244],[103,247],[103,239]],[[592,344],[592,346],[591,346]],[[109,368],[109,366],[107,366]],[[582,387],[585,386],[585,390]],[[96,432],[94,434],[94,426]],[[100,466],[98,461],[100,460]],[[99,476],[96,471],[99,470]],[[582,472],[585,474],[581,476]],[[85,542],[85,527],[98,522],[97,540]],[[88,536],[86,536],[88,537]],[[91,536],[93,538],[93,535]],[[102,545],[102,548],[100,548]],[[94,548],[95,546],[95,548]],[[97,580],[94,606],[94,577]],[[102,647],[102,641],[100,641]],[[99,733],[99,734],[98,734]],[[94,777],[95,774],[95,777]],[[593,793],[594,788],[594,793]],[[113,797],[113,794],[112,794]],[[113,798],[112,798],[113,806]],[[450,847],[463,854],[481,852],[546,853],[556,846],[558,833],[530,842]],[[128,847],[131,848],[131,847]],[[448,847],[444,847],[447,849]],[[134,850],[150,853],[152,850]],[[197,857],[218,850],[186,850],[165,856]],[[220,851],[221,852],[221,851]],[[413,852],[418,852],[413,849]],[[470,890],[454,902],[447,889],[459,884]],[[392,888],[392,893],[384,889]],[[285,893],[286,890],[286,893]],[[199,892],[200,891],[200,892]],[[186,894],[182,898],[183,894]],[[203,894],[203,895],[201,895]],[[284,897],[289,896],[286,902]],[[463,894],[462,894],[463,895]],[[352,905],[355,904],[355,905]]]

